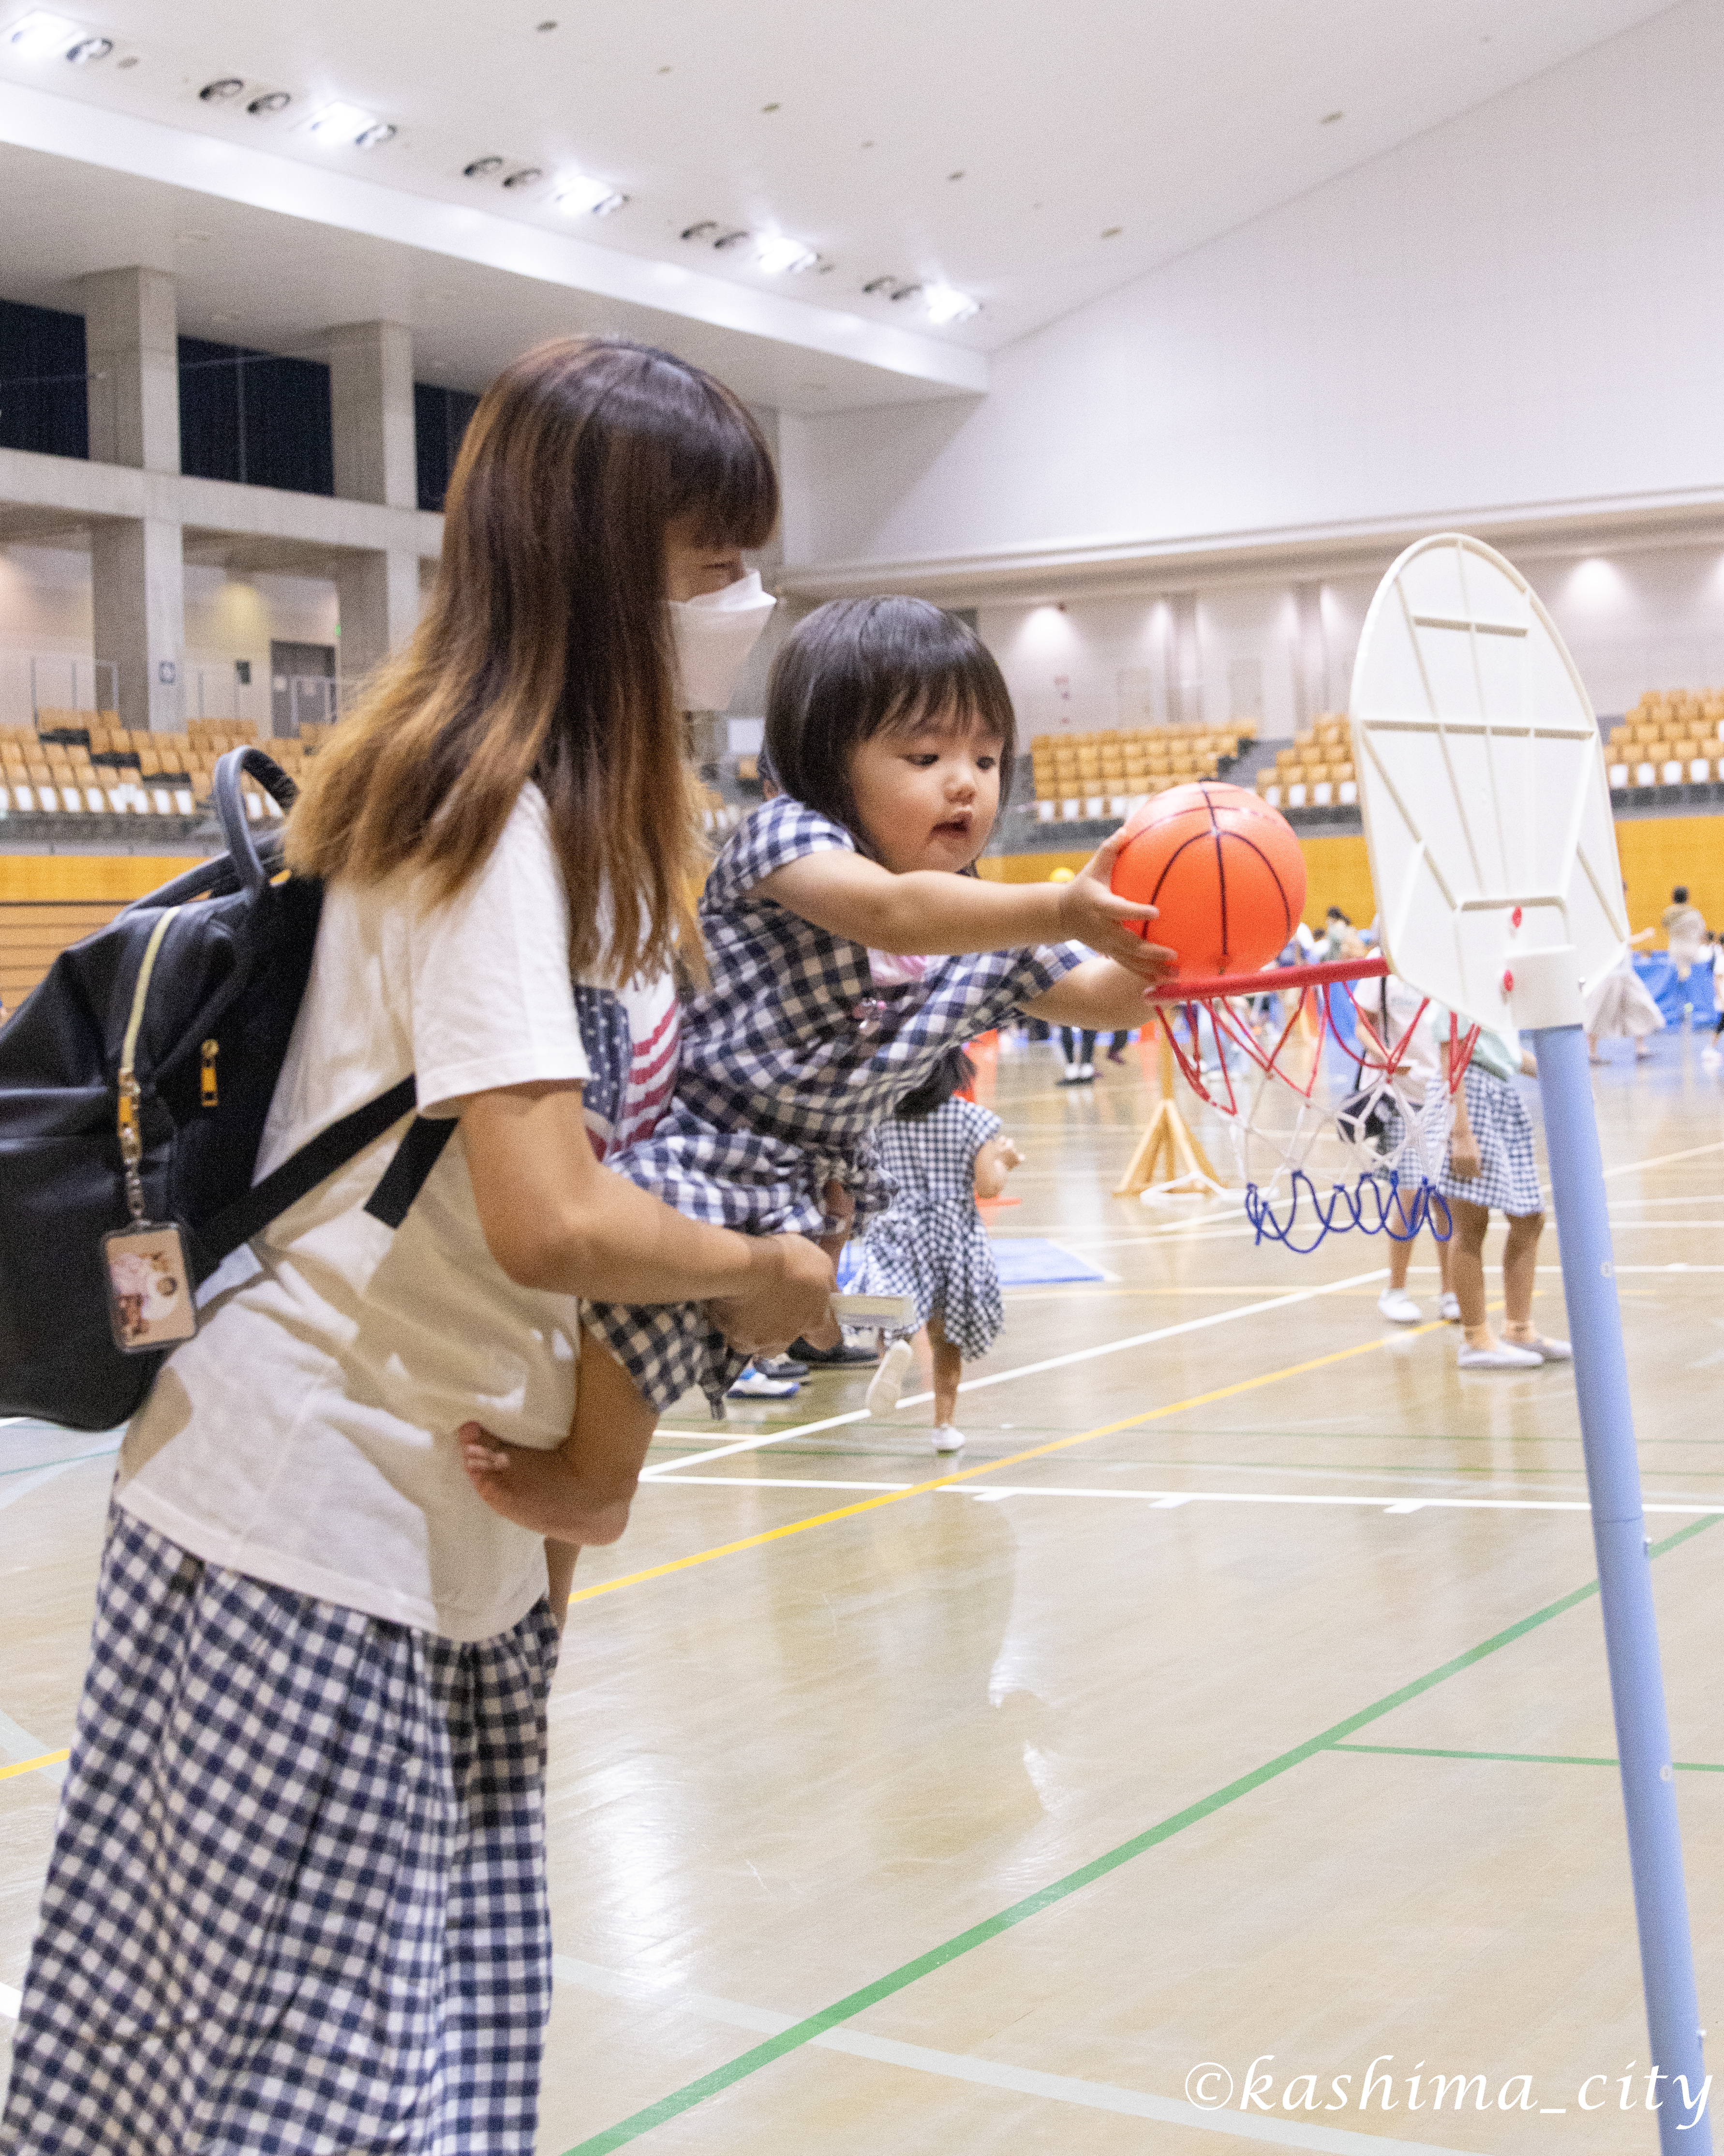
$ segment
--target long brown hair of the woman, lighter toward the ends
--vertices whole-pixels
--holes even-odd
[[[310,761],[289,865],[360,882],[414,865],[450,897],[537,780],[575,970],[621,981],[679,940],[698,966],[666,530],[754,548],[776,522],[761,429],[698,367],[599,336],[515,360],[468,425],[425,619]]]

